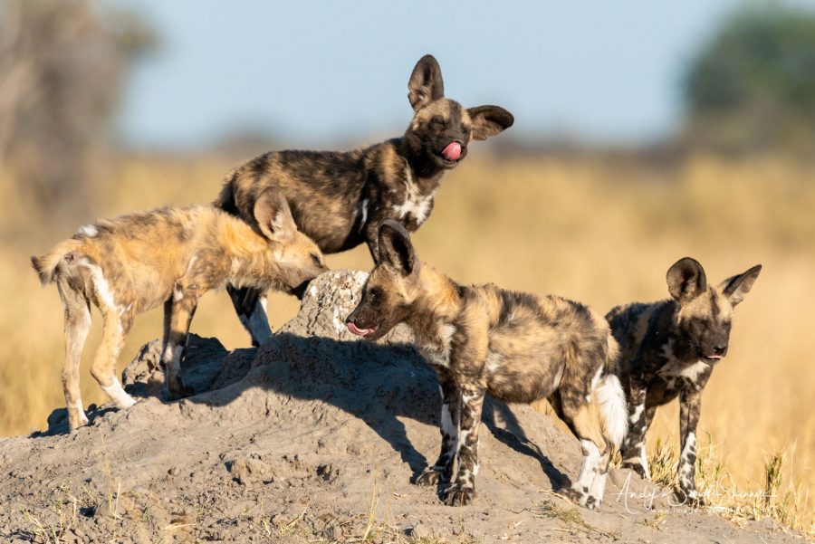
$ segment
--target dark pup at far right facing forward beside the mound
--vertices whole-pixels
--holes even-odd
[[[679,489],[682,500],[699,501],[696,492],[696,424],[702,390],[714,366],[727,354],[733,307],[762,271],[761,265],[713,287],[702,265],[680,259],[667,272],[672,299],[633,303],[609,311],[621,348],[619,378],[628,396],[630,426],[623,443],[623,466],[650,478],[645,449],[648,425],[662,406],[679,396]]]

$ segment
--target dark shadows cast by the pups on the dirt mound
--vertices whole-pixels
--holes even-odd
[[[146,347],[140,355],[148,351]],[[153,351],[158,353],[160,349]],[[167,402],[160,388],[158,361],[145,360],[144,364],[152,375],[142,372],[134,379],[129,367],[131,375],[127,377],[126,371],[123,380],[126,389],[133,396],[159,396]],[[190,335],[182,373],[187,385],[197,391],[187,402],[227,406],[252,387],[302,400],[320,400],[359,417],[408,463],[414,477],[428,464],[426,456],[408,440],[405,425],[399,420],[408,417],[425,425],[439,425],[436,373],[411,345],[277,333],[263,348],[227,353],[216,339]],[[91,425],[110,410],[104,406],[89,409]],[[66,416],[64,408],[54,410],[48,430],[32,436],[67,433]],[[568,484],[569,479],[526,436],[505,403],[487,396],[482,422],[500,442],[541,463],[553,489]],[[435,447],[427,453],[435,460]]]

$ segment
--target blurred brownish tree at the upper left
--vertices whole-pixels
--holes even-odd
[[[48,215],[87,215],[141,20],[88,0],[0,0],[0,165]]]

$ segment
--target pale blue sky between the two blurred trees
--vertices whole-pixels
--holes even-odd
[[[118,131],[195,148],[257,129],[287,143],[395,136],[407,82],[436,55],[446,94],[515,115],[517,138],[641,143],[675,129],[687,63],[738,0],[292,3],[108,0],[139,11],[157,52],[130,74]]]

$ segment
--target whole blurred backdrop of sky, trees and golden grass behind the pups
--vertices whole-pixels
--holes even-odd
[[[0,1],[0,435],[64,405],[62,308],[30,255],[98,217],[209,202],[265,150],[397,136],[432,52],[449,97],[516,123],[447,175],[421,258],[604,311],[666,298],[686,255],[714,282],[762,263],[705,390],[700,472],[739,515],[811,531],[815,3],[582,4]],[[363,247],[328,262],[371,264]],[[297,308],[273,296],[273,325]],[[249,342],[225,293],[192,330]],[[141,316],[120,367],[160,331],[160,310]],[[86,403],[104,401],[100,332]],[[671,468],[677,434],[673,403],[653,463]]]

